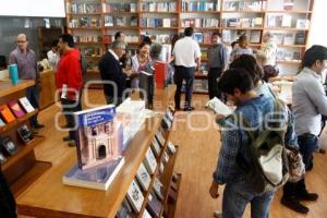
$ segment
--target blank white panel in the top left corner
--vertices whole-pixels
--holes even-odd
[[[0,0],[0,16],[64,17],[64,0]]]

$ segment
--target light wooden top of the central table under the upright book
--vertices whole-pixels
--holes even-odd
[[[166,111],[175,87],[157,89],[155,109]],[[160,102],[160,104],[156,104]],[[161,117],[146,119],[124,152],[125,164],[108,191],[62,184],[62,175],[76,164],[75,149],[17,197],[19,214],[34,217],[114,217],[137,169],[160,126]]]

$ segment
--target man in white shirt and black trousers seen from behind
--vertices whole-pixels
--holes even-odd
[[[175,109],[180,109],[181,93],[183,81],[185,80],[185,111],[193,110],[192,88],[194,82],[194,74],[196,69],[201,65],[201,50],[198,44],[193,40],[193,28],[187,27],[184,31],[184,37],[179,39],[173,48],[172,56],[174,58],[175,73],[174,83],[177,90],[174,94]]]

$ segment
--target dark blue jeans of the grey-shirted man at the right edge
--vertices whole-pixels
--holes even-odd
[[[310,170],[313,168],[313,153],[318,147],[318,138],[313,134],[305,133],[298,136],[298,143],[305,165],[305,170]]]

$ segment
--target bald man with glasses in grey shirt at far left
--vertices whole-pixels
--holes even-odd
[[[35,85],[26,88],[26,97],[34,108],[38,108],[39,101],[39,72],[35,52],[28,48],[28,40],[25,34],[17,36],[17,47],[9,56],[9,64],[17,64],[20,80],[34,80]],[[44,128],[37,121],[37,114],[29,119],[33,129]]]

